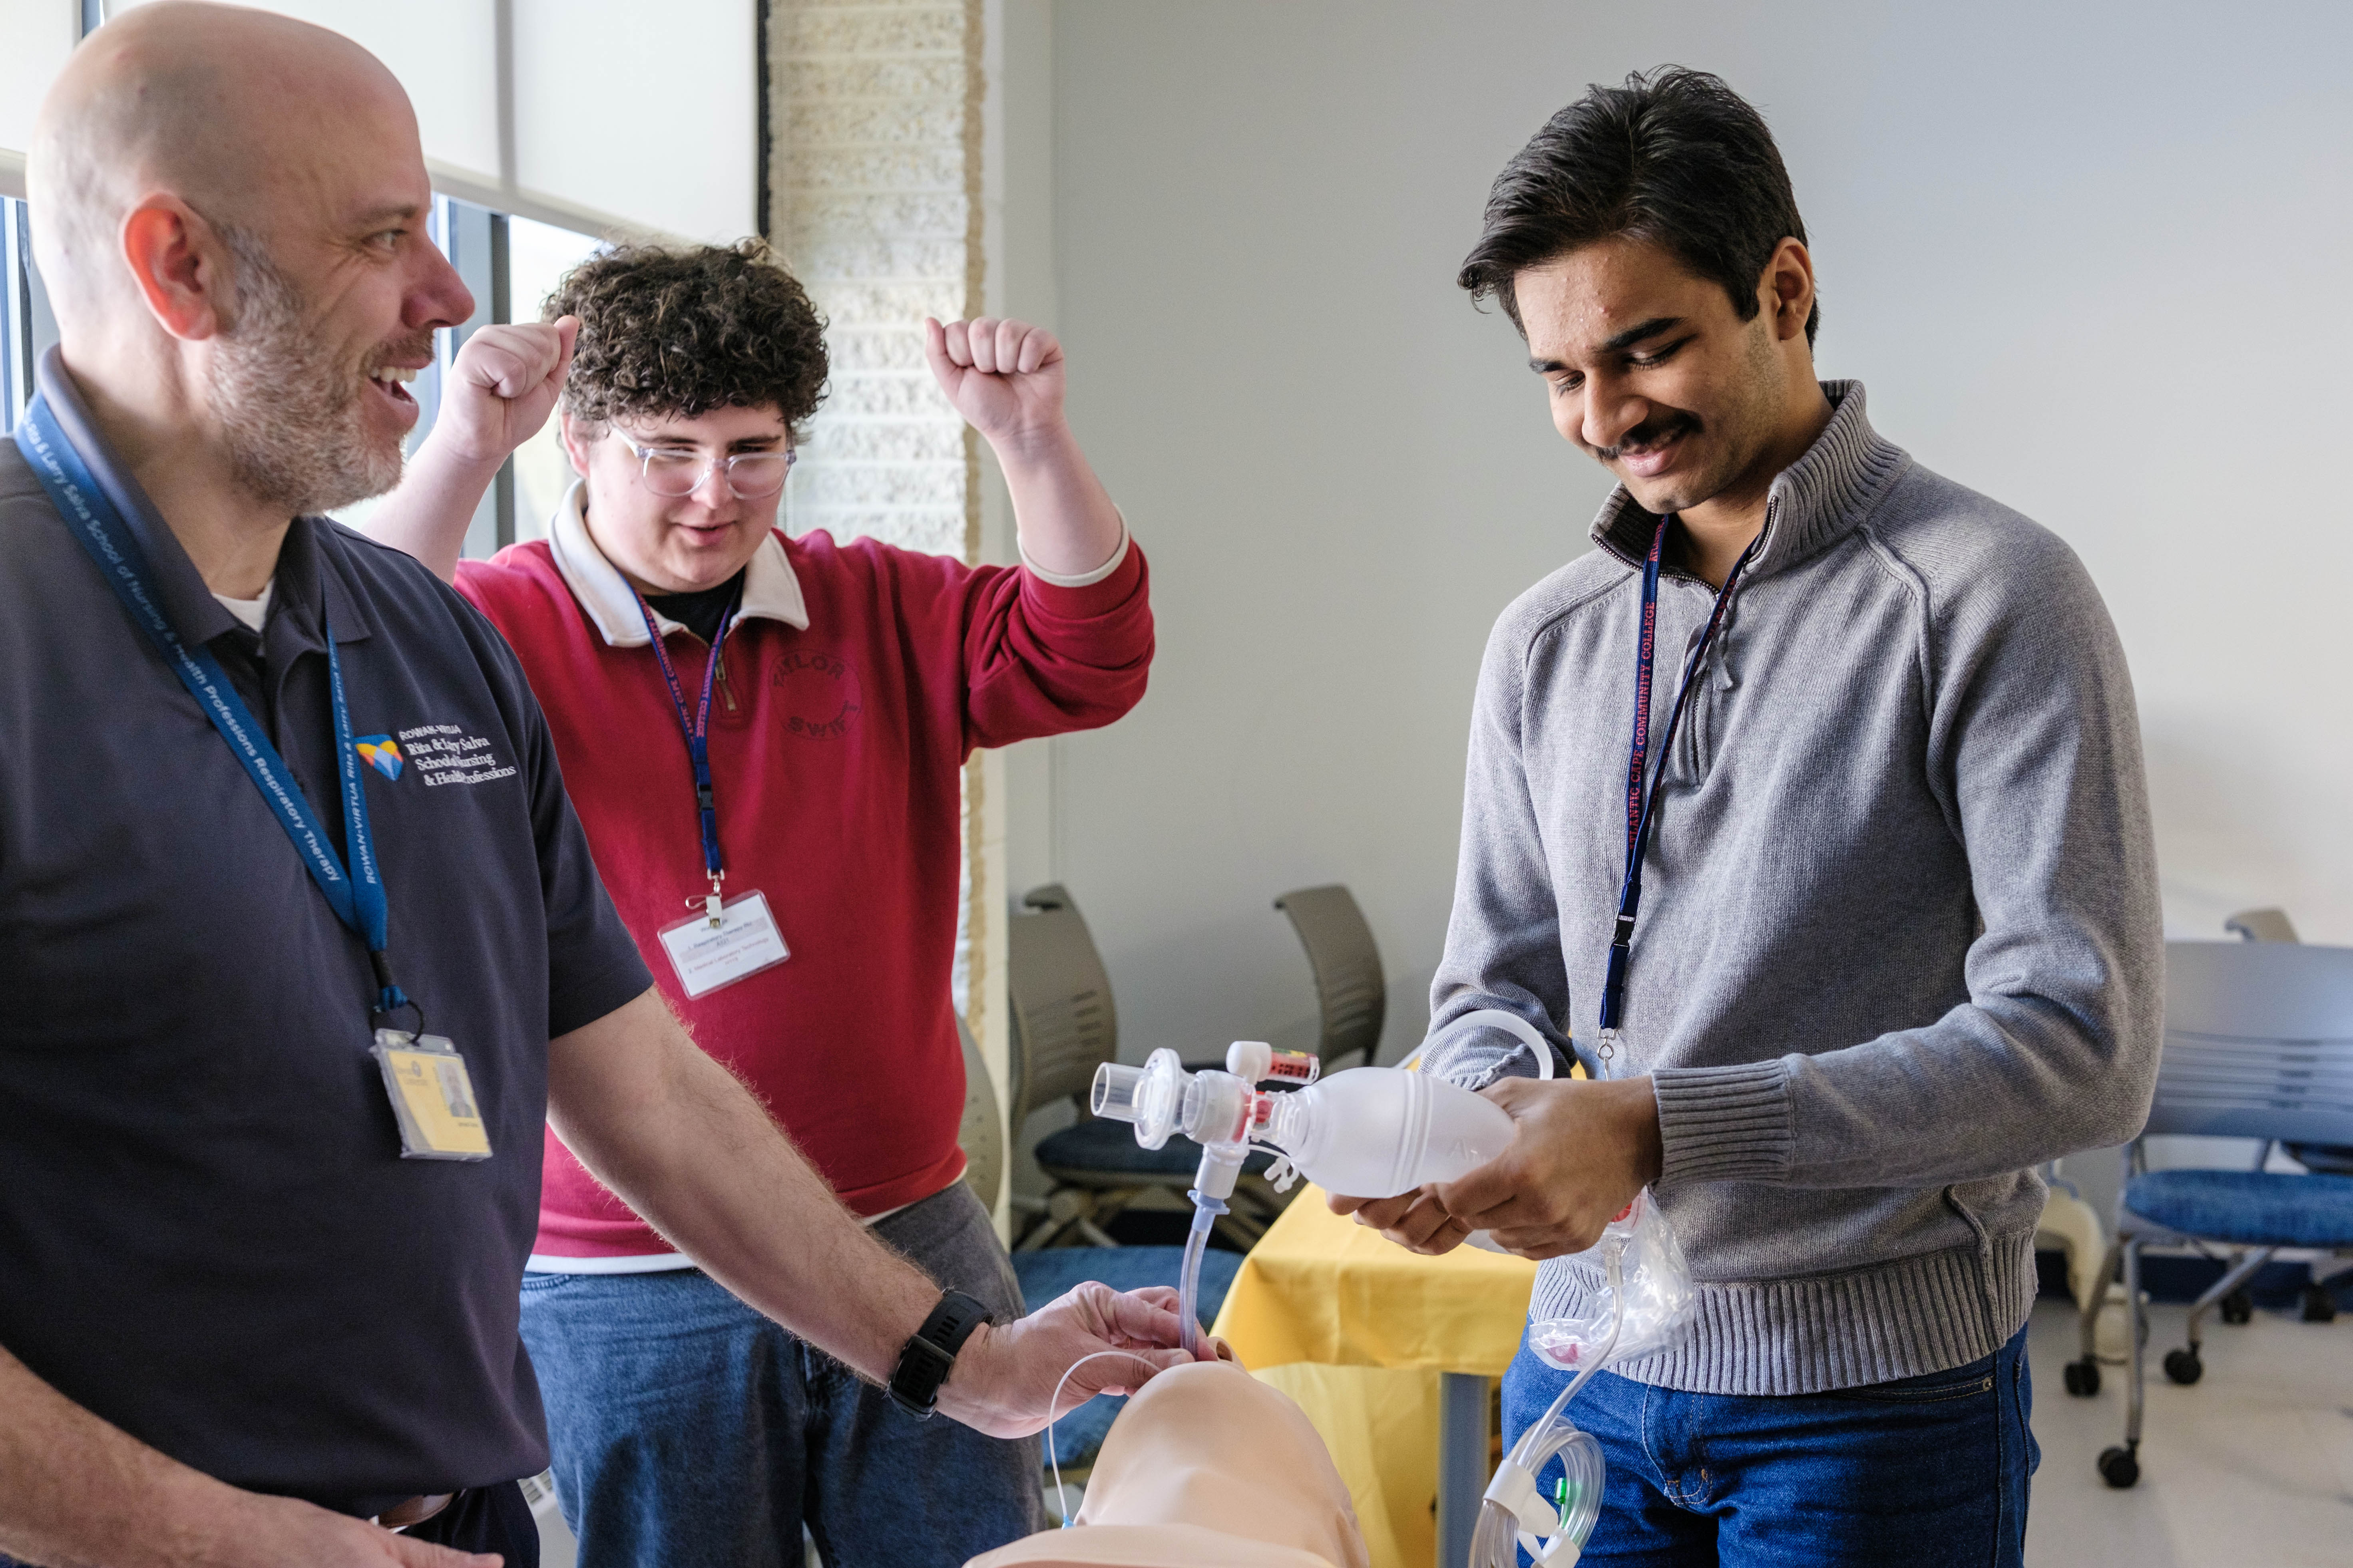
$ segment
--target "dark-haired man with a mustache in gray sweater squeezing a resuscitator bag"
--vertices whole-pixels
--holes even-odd
[[[1814,378],[1805,226],[1720,80],[1555,115],[1461,284],[1619,489],[1487,642],[1433,1027],[1511,1009],[1600,1081],[1452,1044],[1428,1070],[1513,1147],[1334,1208],[1548,1260],[1541,1321],[1657,1187],[1699,1312],[1569,1410],[1609,1460],[1588,1563],[2017,1563],[2033,1166],[2139,1131],[2162,1030],[2108,614]],[[1522,1345],[1513,1434],[1562,1378]]]

